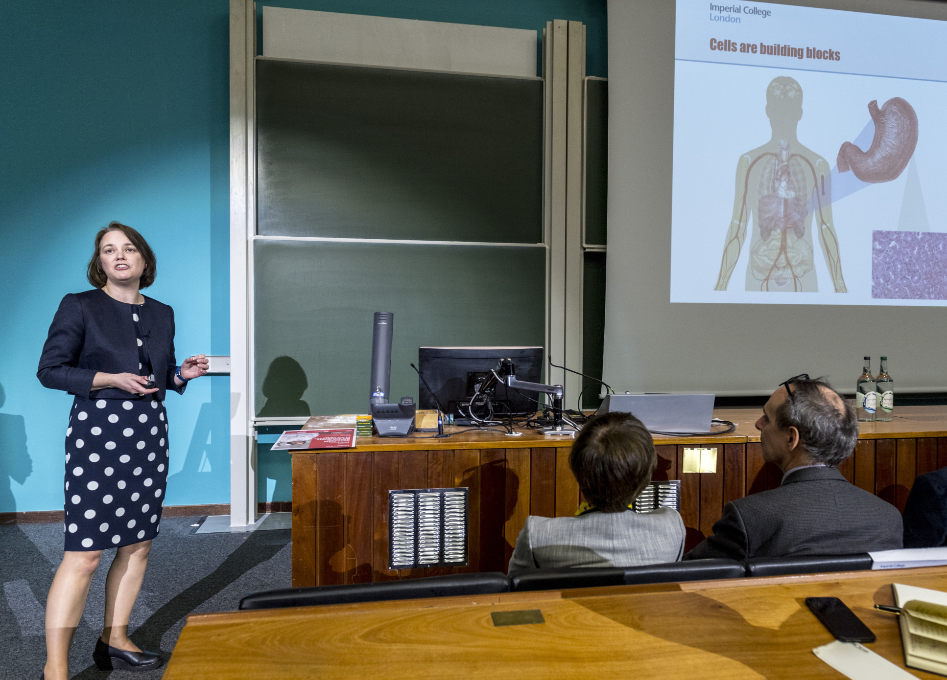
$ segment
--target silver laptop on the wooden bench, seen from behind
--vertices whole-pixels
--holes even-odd
[[[709,432],[713,394],[607,394],[598,413],[631,413],[657,432]]]

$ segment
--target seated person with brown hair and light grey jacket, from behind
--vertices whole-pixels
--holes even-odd
[[[592,418],[569,453],[569,467],[590,507],[574,517],[528,516],[509,571],[637,567],[681,559],[681,515],[672,508],[639,514],[629,507],[651,481],[656,463],[651,433],[634,415]]]

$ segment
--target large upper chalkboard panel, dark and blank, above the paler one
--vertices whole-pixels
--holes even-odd
[[[538,243],[543,81],[257,61],[258,234]]]

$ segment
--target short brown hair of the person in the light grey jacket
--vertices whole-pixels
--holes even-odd
[[[651,481],[656,464],[651,432],[631,413],[595,416],[569,453],[582,495],[603,513],[627,509]]]

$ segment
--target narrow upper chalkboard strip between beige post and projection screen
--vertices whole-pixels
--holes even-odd
[[[585,242],[607,243],[608,80],[585,81]]]

